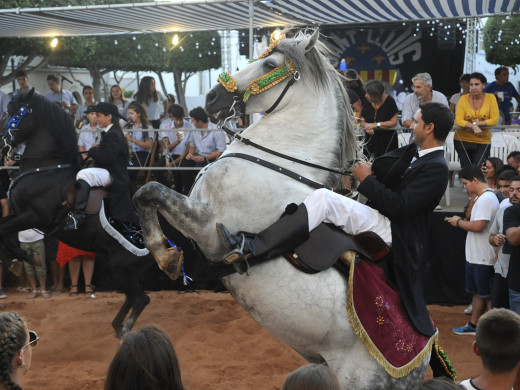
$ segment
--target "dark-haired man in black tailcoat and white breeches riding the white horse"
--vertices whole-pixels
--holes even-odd
[[[312,192],[297,209],[252,238],[231,235],[219,225],[219,235],[233,249],[224,262],[267,259],[288,252],[309,237],[320,223],[332,223],[349,234],[376,232],[392,246],[389,270],[415,327],[432,336],[434,329],[424,301],[420,278],[421,247],[426,239],[428,218],[439,204],[448,183],[444,140],[453,127],[453,114],[440,103],[423,104],[414,117],[412,129],[418,156],[412,147],[394,150],[386,158],[397,158],[390,174],[375,172],[372,164],[358,163],[353,176],[366,205],[320,189]],[[413,147],[414,148],[414,147]],[[403,152],[406,152],[403,154]],[[408,157],[405,157],[408,156]],[[239,249],[240,248],[240,249]]]

